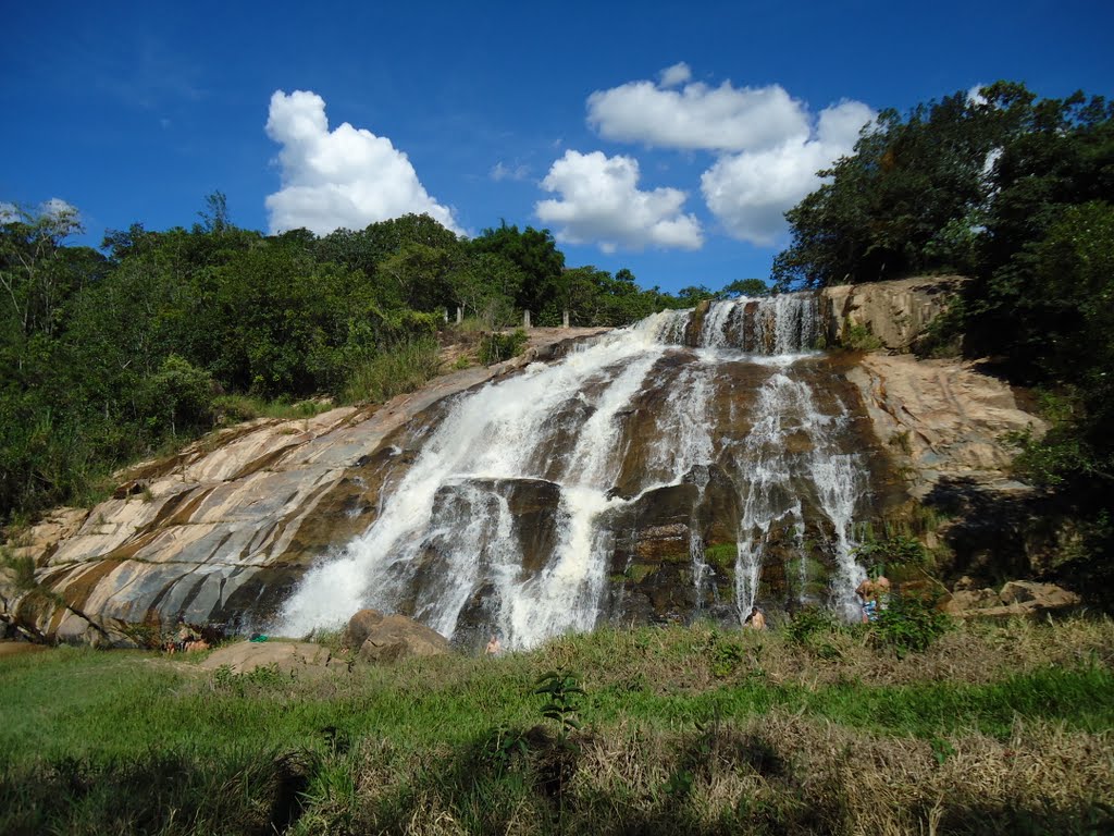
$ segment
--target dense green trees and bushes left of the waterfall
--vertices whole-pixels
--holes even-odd
[[[463,240],[405,215],[264,236],[216,193],[189,230],[135,224],[100,251],[68,245],[80,231],[69,210],[0,217],[0,521],[91,498],[114,468],[244,417],[244,396],[420,386],[446,311],[494,331],[524,309],[620,325],[688,301],[626,270],[566,269],[548,231],[507,224]]]

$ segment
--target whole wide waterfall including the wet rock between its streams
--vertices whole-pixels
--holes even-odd
[[[823,597],[852,606],[864,480],[841,437],[847,407],[813,391],[817,332],[812,294],[721,301],[457,396],[381,486],[371,527],[306,572],[276,629],[304,634],[371,606],[461,643],[496,632],[529,648],[624,618],[616,573],[674,542],[681,557],[659,562],[687,564],[688,614],[727,590],[739,619],[765,600],[786,526],[800,552],[791,596],[818,597],[804,541],[822,531],[834,567]],[[733,567],[706,558],[725,531]]]

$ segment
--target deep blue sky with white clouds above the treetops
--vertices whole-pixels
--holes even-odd
[[[545,226],[671,291],[766,276],[872,111],[1114,94],[1110,2],[6,6],[0,203],[66,201],[86,243],[219,189],[265,232]]]

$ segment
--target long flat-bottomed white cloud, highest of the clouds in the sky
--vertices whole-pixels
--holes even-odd
[[[588,96],[588,124],[607,139],[717,152],[771,148],[808,137],[807,108],[780,85],[709,87],[685,84],[690,76],[688,65],[676,64],[662,71],[659,84],[629,81],[597,90]]]

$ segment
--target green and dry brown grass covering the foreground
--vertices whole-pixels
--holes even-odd
[[[196,661],[0,660],[0,833],[1114,827],[1110,620],[900,659],[859,629],[697,625],[303,678]]]

